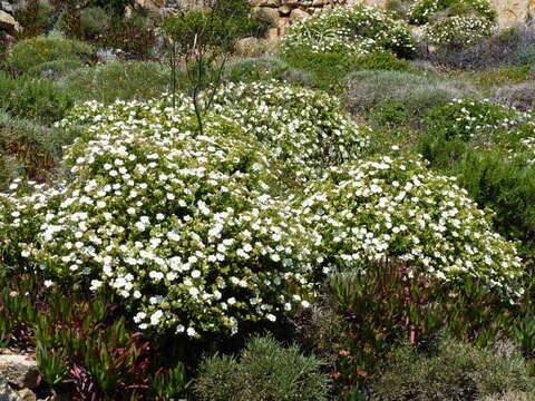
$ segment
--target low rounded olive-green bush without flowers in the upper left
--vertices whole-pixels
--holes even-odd
[[[81,41],[61,36],[35,37],[14,45],[6,62],[17,71],[27,71],[43,62],[65,59],[87,60],[93,55],[93,48]]]

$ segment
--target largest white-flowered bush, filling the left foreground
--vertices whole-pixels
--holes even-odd
[[[307,305],[305,228],[270,195],[255,138],[215,115],[200,136],[179,100],[76,108],[61,125],[93,123],[64,159],[76,179],[2,196],[2,238],[33,225],[9,250],[48,280],[111,287],[140,329],[235,333]]]

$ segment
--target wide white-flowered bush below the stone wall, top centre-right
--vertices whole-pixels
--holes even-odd
[[[415,39],[405,22],[378,8],[356,4],[325,9],[294,23],[282,39],[282,49],[354,55],[391,50],[407,57],[415,50]]]

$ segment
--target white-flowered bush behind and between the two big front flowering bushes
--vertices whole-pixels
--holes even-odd
[[[231,84],[215,97],[215,111],[237,121],[284,163],[285,174],[354,159],[368,146],[368,128],[320,91],[272,82]]]

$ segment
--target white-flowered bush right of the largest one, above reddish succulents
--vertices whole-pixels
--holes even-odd
[[[522,293],[515,246],[493,232],[455,178],[428,172],[419,159],[332,167],[309,185],[300,207],[321,235],[328,271],[395,256],[441,282],[468,276],[512,300]]]

